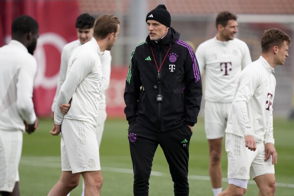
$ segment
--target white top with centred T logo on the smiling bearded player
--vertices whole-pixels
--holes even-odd
[[[205,70],[205,100],[232,102],[236,79],[252,62],[246,43],[237,38],[219,41],[214,37],[200,44],[195,55],[201,75]]]

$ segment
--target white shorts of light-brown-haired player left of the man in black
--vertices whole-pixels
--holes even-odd
[[[62,171],[101,170],[95,127],[91,123],[63,119],[60,149]]]

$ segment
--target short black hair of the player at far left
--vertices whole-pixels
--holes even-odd
[[[29,32],[39,30],[38,22],[28,15],[21,15],[15,18],[11,25],[12,37],[15,35],[25,35]]]

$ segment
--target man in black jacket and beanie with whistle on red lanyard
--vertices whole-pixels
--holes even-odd
[[[134,196],[148,196],[158,145],[168,162],[175,196],[188,196],[189,140],[202,98],[199,66],[191,46],[170,28],[164,5],[150,11],[146,22],[149,35],[132,53],[124,93]]]

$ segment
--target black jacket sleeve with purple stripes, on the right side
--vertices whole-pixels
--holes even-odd
[[[193,49],[187,51],[187,61],[184,65],[186,78],[185,123],[193,126],[197,122],[202,99],[202,82],[199,66]]]

